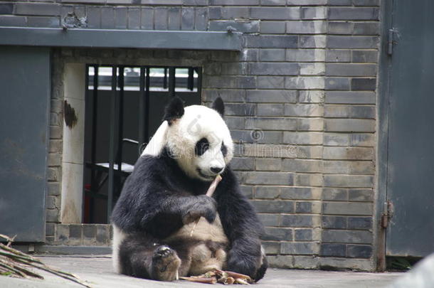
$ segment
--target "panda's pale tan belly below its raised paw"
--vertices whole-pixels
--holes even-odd
[[[164,240],[169,247],[171,243],[181,242],[181,245],[188,250],[187,258],[191,261],[189,269],[182,271],[180,276],[199,275],[213,269],[225,269],[228,238],[223,231],[218,214],[213,223],[200,218],[196,228],[195,225],[196,222],[184,225]],[[191,230],[194,230],[192,235]]]

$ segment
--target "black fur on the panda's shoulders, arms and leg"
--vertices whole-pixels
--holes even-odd
[[[120,245],[122,273],[155,279],[152,257],[162,240],[181,228],[189,213],[208,221],[218,211],[229,240],[228,270],[248,274],[255,280],[263,277],[260,267],[260,224],[248,199],[240,192],[230,167],[222,174],[213,198],[205,196],[210,182],[189,178],[167,149],[159,157],[143,156],[125,181],[112,213],[112,223],[128,233]],[[170,245],[183,261],[186,242]],[[265,262],[264,262],[265,263]]]

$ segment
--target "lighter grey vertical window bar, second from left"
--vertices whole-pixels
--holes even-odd
[[[115,134],[116,134],[116,86],[117,86],[117,66],[112,66],[112,95],[110,99],[110,139],[109,139],[109,179],[107,193],[107,223],[110,223],[113,207],[113,191],[115,184]]]

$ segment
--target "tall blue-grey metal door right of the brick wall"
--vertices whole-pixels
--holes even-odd
[[[434,1],[393,1],[392,15],[386,255],[423,257],[434,252]]]

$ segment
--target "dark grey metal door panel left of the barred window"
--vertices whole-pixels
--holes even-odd
[[[0,233],[45,239],[50,50],[0,47]]]

